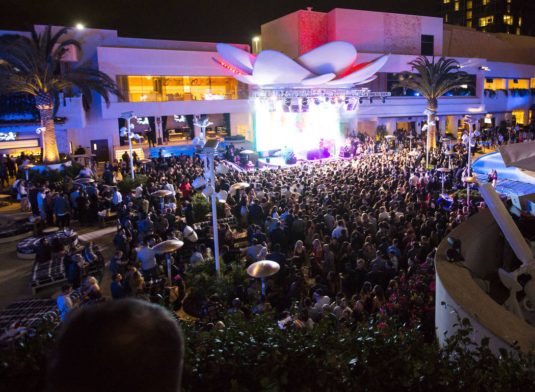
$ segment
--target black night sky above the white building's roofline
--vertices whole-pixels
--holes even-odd
[[[118,30],[119,36],[250,44],[265,22],[313,7],[437,16],[436,0],[4,0],[0,30],[28,25]]]

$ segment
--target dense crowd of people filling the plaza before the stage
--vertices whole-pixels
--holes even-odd
[[[362,136],[363,145],[381,143]],[[357,135],[355,139],[361,140]],[[287,312],[297,303],[299,317],[291,319],[293,325],[313,328],[322,318],[354,326],[380,311],[400,281],[432,257],[447,233],[484,207],[455,197],[448,203],[439,199],[441,176],[436,168],[448,167],[447,146],[431,151],[431,166],[424,165],[423,141],[413,140],[412,147],[418,155],[409,155],[404,148],[388,154],[254,172],[231,169],[220,174],[216,192],[230,192],[224,203],[225,217],[234,217],[239,229],[247,230],[246,243],[240,245],[230,225],[219,225],[217,246],[223,273],[231,262],[246,267],[264,259],[279,263],[280,270],[268,279],[265,294],[261,294],[260,282],[251,278],[236,287],[232,298],[213,293],[205,299],[201,313],[192,316],[200,316],[201,322],[211,326],[226,312],[248,317],[274,309],[279,325],[286,328]],[[463,146],[456,144],[453,149],[458,155],[453,156],[452,171],[446,174],[447,189],[462,186],[467,174]],[[163,298],[179,309],[188,289],[184,284],[188,266],[213,254],[211,229],[193,229],[202,217],[195,217],[192,198],[202,188],[191,184],[203,176],[204,166],[197,155],[164,157],[160,153],[144,165],[136,164],[137,173],[147,175],[147,182],[136,185],[132,193],[121,194],[115,186],[117,178],[129,175],[130,170],[129,157],[123,158],[106,163],[102,173],[89,173],[83,167],[80,177],[98,180],[87,185],[67,180],[56,188],[48,183],[25,188],[21,179],[18,187],[27,189],[34,214],[41,214],[50,225],[68,227],[74,221],[90,225],[102,211],[116,212],[120,228],[113,239],[115,252],[109,267],[112,298]],[[239,182],[249,187],[234,190],[232,185]],[[171,192],[163,213],[159,199],[150,196],[158,189]],[[185,242],[172,257],[172,282],[166,278],[164,257],[152,249],[167,239]],[[40,246],[47,257],[51,245]],[[85,285],[81,283],[79,256],[75,249],[60,255],[68,282],[83,292],[84,303],[100,302],[103,296],[97,281],[88,278]],[[65,299],[70,287],[64,289],[61,298]],[[68,303],[64,299],[62,305]]]

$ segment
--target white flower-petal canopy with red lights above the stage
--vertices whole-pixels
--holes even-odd
[[[328,42],[295,59],[276,50],[255,57],[225,43],[217,44],[217,52],[224,62],[212,59],[235,79],[259,87],[353,87],[377,78],[373,74],[390,56],[354,65],[357,51],[345,41]]]

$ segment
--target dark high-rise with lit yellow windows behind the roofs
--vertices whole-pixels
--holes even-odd
[[[535,2],[525,0],[438,0],[450,25],[487,33],[535,36]]]

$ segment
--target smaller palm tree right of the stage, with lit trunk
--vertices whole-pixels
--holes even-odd
[[[412,66],[412,72],[403,71],[401,79],[394,87],[410,88],[427,98],[427,158],[429,164],[429,150],[435,147],[435,117],[437,116],[438,98],[448,91],[470,84],[468,74],[459,71],[459,63],[454,59],[441,57],[437,63],[430,63],[427,57],[418,56],[407,65]]]

